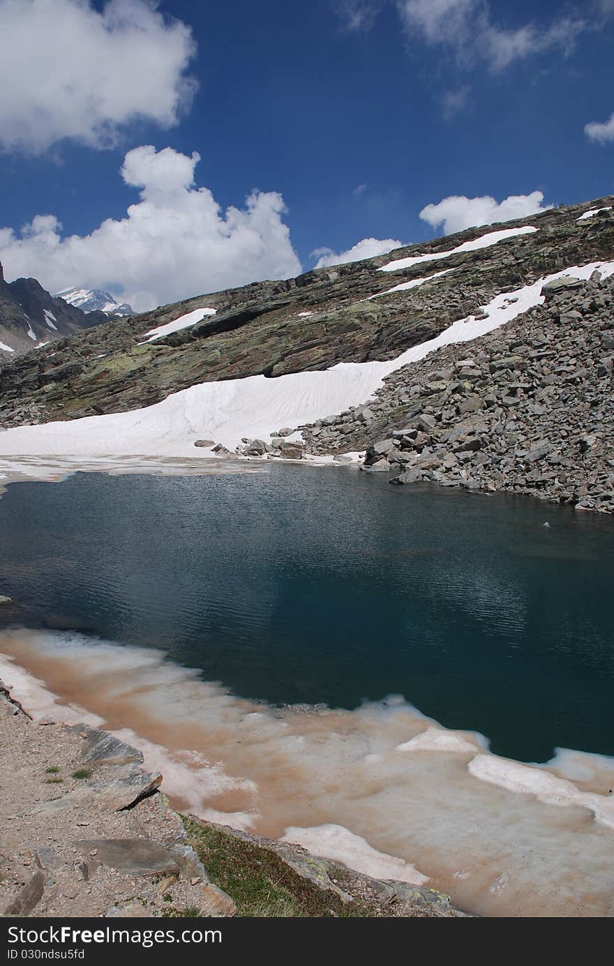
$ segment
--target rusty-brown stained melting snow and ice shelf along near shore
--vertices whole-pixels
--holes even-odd
[[[87,708],[141,748],[179,808],[372,874],[427,876],[485,915],[614,911],[612,759],[565,752],[521,765],[400,699],[271,709],[156,650],[77,634],[0,632],[0,652],[14,658],[0,675],[28,710],[73,721]]]

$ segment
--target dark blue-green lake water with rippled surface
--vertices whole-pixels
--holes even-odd
[[[59,615],[273,703],[402,695],[522,760],[614,753],[610,518],[346,469],[78,473],[10,486],[0,541],[31,626]]]

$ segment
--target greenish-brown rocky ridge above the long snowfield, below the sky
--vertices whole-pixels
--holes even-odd
[[[0,398],[5,408],[15,410],[15,404],[27,401],[44,406],[45,419],[71,419],[147,406],[196,383],[390,359],[477,312],[506,289],[570,265],[611,258],[612,213],[578,218],[612,202],[603,198],[507,222],[506,230],[525,225],[538,230],[459,252],[445,262],[439,257],[426,265],[379,270],[391,259],[441,256],[504,226],[472,228],[363,262],[110,320],[5,364]],[[371,298],[441,270],[448,271],[429,283]],[[201,307],[216,314],[154,342],[145,340],[146,332]]]

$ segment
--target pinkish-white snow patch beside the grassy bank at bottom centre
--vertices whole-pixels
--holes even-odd
[[[411,863],[378,852],[365,838],[342,825],[318,825],[309,829],[290,826],[281,841],[302,845],[312,855],[342,862],[344,866],[370,875],[373,879],[395,879],[396,882],[411,882],[414,886],[428,882],[428,876]]]

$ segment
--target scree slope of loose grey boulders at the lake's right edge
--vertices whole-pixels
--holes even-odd
[[[366,450],[392,483],[508,490],[614,512],[614,276],[562,278],[544,304],[384,381],[368,407],[304,427],[314,453]]]

